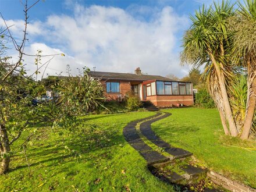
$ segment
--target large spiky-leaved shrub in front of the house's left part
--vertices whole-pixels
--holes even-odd
[[[69,66],[67,70],[69,76],[61,77],[57,88],[61,95],[59,103],[63,109],[72,115],[77,115],[77,113],[87,113],[103,106],[104,88],[99,79],[89,76],[90,69],[84,67],[83,74],[77,76],[72,76]]]

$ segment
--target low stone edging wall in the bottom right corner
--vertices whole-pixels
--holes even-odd
[[[253,189],[249,186],[234,182],[233,180],[230,180],[227,177],[219,175],[218,173],[213,172],[213,171],[209,171],[207,173],[207,176],[209,178],[211,178],[212,182],[218,184],[219,186],[222,186],[223,188],[225,188],[229,191],[233,191],[233,192],[256,192],[255,189]]]

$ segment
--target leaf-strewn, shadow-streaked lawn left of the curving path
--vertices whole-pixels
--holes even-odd
[[[147,163],[125,141],[123,127],[154,112],[90,115],[73,132],[38,129],[26,153],[19,145],[0,191],[171,191],[147,169]]]

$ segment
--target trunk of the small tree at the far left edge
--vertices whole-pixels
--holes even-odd
[[[6,128],[3,125],[0,125],[0,134],[1,134],[1,137],[2,137],[1,147],[0,147],[1,148],[1,155],[2,155],[0,175],[2,175],[3,173],[8,172],[9,163],[10,163],[9,139],[8,139],[8,134],[7,134]]]

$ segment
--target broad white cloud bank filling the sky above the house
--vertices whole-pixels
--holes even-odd
[[[52,60],[47,69],[49,74],[64,71],[66,64],[70,64],[72,69],[95,66],[99,71],[128,73],[141,67],[148,74],[184,76],[187,67],[179,65],[177,33],[186,29],[187,17],[165,6],[154,9],[154,14],[141,20],[129,13],[131,9],[84,7],[74,3],[73,16],[51,15],[44,23],[32,22],[29,35],[33,38],[26,51],[30,54],[35,54],[37,49],[43,54],[64,52],[64,58],[56,56]],[[152,11],[147,7],[136,9],[141,15]],[[21,22],[13,22],[19,29]],[[41,43],[39,39],[34,41],[39,36]],[[33,61],[34,58],[29,60]],[[28,66],[31,71],[34,69],[33,65]]]

